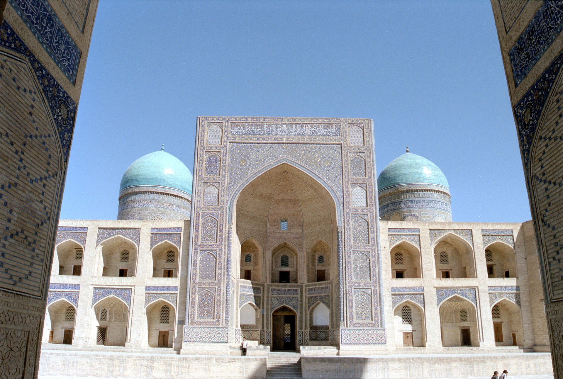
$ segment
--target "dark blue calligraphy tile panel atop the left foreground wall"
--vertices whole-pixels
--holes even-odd
[[[51,59],[74,84],[82,52],[47,0],[8,0]]]

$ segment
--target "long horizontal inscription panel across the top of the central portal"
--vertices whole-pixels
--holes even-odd
[[[269,123],[231,122],[234,136],[340,136],[336,123]]]

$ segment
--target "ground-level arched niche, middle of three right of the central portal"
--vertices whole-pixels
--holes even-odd
[[[479,346],[475,305],[455,295],[443,301],[439,311],[443,346]]]

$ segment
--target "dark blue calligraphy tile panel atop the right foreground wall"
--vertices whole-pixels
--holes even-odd
[[[557,35],[563,30],[563,1],[542,3],[530,24],[508,51],[514,84],[517,87]]]

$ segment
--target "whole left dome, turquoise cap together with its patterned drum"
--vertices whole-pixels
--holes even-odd
[[[164,150],[131,163],[119,186],[118,220],[189,220],[190,170]]]

